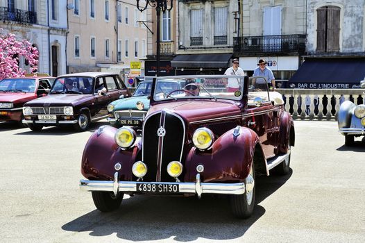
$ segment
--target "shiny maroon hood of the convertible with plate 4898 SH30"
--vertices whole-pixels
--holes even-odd
[[[228,117],[241,114],[241,103],[235,101],[178,101],[151,106],[149,114],[167,110],[183,117],[187,122]]]

